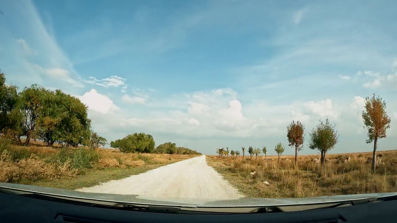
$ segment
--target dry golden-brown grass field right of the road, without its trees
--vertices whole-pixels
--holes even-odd
[[[397,192],[397,150],[379,151],[381,163],[376,173],[366,163],[372,152],[328,154],[324,167],[312,161],[317,155],[298,156],[245,156],[231,158],[207,156],[214,167],[231,185],[249,197],[303,198],[341,194]],[[335,159],[342,161],[337,163]],[[285,160],[289,159],[289,160]],[[331,160],[332,162],[330,162]]]

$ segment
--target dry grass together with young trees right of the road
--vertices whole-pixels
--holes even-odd
[[[274,151],[278,156],[266,156],[249,146],[249,157],[231,156],[224,148],[217,156],[207,156],[207,162],[240,192],[251,197],[303,198],[341,194],[397,192],[397,150],[379,151],[378,140],[386,137],[391,119],[385,112],[386,103],[379,96],[367,97],[362,111],[367,129],[366,143],[374,143],[372,152],[328,154],[338,143],[336,125],[320,120],[308,134],[308,148],[320,154],[298,156],[303,149],[304,125],[292,121],[287,126],[289,146],[295,156],[283,156],[285,147],[279,142]],[[245,147],[242,147],[245,154]],[[265,156],[259,156],[263,152]],[[236,154],[232,150],[232,154]],[[328,154],[328,155],[327,155]],[[253,158],[255,156],[255,158]],[[294,160],[294,162],[292,161]]]

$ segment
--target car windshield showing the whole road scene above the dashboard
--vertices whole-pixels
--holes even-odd
[[[1,1],[0,182],[189,204],[397,192],[396,7]]]

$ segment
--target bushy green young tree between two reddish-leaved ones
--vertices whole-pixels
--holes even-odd
[[[331,125],[328,119],[325,123],[320,120],[320,123],[312,129],[309,135],[308,147],[321,153],[321,164],[324,164],[326,153],[338,143],[339,135],[335,130],[335,125]]]

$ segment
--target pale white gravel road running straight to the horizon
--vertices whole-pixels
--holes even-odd
[[[146,173],[78,189],[78,191],[137,194],[156,198],[225,200],[243,197],[207,165],[205,156],[179,161]]]

